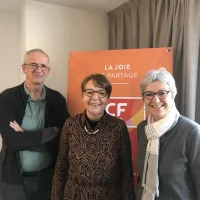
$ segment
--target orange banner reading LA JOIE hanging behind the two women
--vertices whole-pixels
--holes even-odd
[[[104,74],[112,83],[106,111],[123,119],[129,128],[135,182],[137,169],[137,125],[146,119],[140,94],[140,80],[150,69],[165,67],[172,72],[172,48],[70,52],[68,58],[67,103],[70,114],[84,111],[80,85],[92,73]]]

